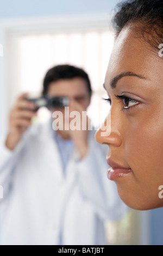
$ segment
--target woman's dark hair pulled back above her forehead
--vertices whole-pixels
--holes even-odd
[[[143,39],[158,50],[163,42],[163,1],[128,0],[117,4],[117,8],[113,19],[116,36],[125,26],[139,22],[136,26],[138,34],[141,33]]]

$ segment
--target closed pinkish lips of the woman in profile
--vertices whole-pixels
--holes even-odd
[[[109,180],[116,180],[118,178],[125,177],[128,174],[133,172],[133,170],[131,170],[130,168],[120,166],[110,159],[107,159],[107,163],[110,166],[110,168],[108,170],[108,179]]]

